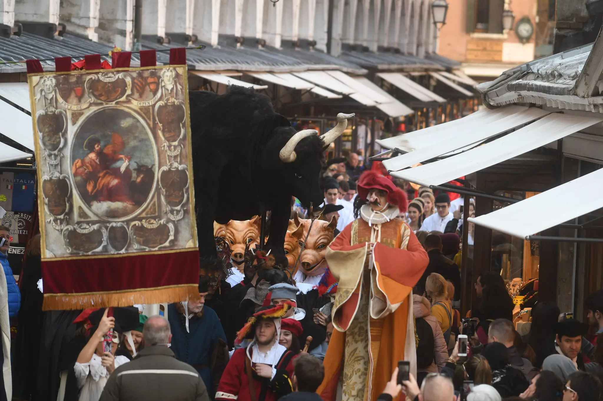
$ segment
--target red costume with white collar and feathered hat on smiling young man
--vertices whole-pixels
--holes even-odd
[[[238,332],[238,340],[254,338],[248,347],[239,348],[230,358],[218,385],[216,401],[276,401],[291,393],[293,376],[292,360],[295,355],[279,344],[280,321],[292,305],[288,302],[260,308]],[[260,319],[272,319],[276,325],[276,341],[267,353],[259,351],[254,336],[255,325]],[[256,364],[272,366],[272,378],[256,375]]]

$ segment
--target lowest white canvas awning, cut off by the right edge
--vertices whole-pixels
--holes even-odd
[[[469,218],[492,230],[526,238],[603,207],[603,168],[485,215]],[[579,201],[567,194],[580,194]]]

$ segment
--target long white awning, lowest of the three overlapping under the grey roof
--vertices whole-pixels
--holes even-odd
[[[391,175],[424,186],[441,185],[522,155],[601,121],[603,117],[599,117],[598,114],[593,114],[592,117],[549,114],[502,138],[467,152],[437,162],[395,171]]]

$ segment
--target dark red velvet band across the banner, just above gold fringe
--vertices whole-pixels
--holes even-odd
[[[139,290],[199,283],[199,251],[43,260],[45,294]]]

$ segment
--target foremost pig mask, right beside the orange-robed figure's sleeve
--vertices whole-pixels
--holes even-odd
[[[312,220],[302,219],[303,236],[300,239],[299,245],[303,244],[303,240],[308,235]],[[324,273],[327,268],[327,261],[324,259],[324,254],[327,251],[327,246],[333,241],[335,234],[333,230],[337,227],[337,221],[332,218],[331,221],[314,220],[312,231],[308,236],[306,247],[301,253],[300,266],[301,272],[307,276],[317,276]],[[293,272],[295,274],[296,272]]]

